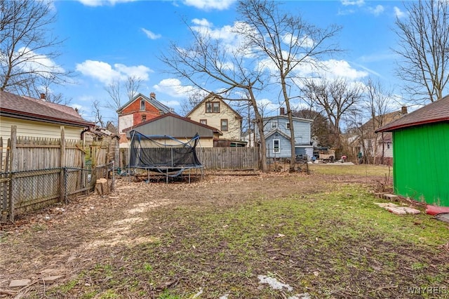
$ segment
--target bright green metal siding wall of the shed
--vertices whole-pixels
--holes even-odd
[[[449,206],[449,124],[393,131],[394,193]]]

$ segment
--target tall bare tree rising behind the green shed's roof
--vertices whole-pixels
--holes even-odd
[[[449,2],[410,1],[408,18],[396,18],[401,57],[396,73],[415,100],[434,102],[447,93],[449,80]]]

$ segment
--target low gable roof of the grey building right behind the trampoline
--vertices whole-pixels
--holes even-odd
[[[195,133],[199,133],[199,132],[197,132],[197,130],[195,132],[193,132],[192,129],[194,129],[194,128],[203,128],[203,129],[206,129],[206,131],[209,130],[209,131],[212,131],[213,133],[217,133],[218,135],[223,135],[223,133],[220,130],[218,130],[217,128],[213,128],[206,124],[201,124],[199,122],[192,121],[192,119],[188,119],[187,117],[180,117],[179,115],[173,114],[171,112],[162,114],[159,117],[154,117],[153,119],[149,119],[148,121],[144,121],[144,122],[137,124],[135,126],[132,126],[130,128],[123,129],[123,133],[128,133],[129,131],[141,128],[143,126],[147,126],[148,124],[156,124],[166,118],[174,118],[174,119],[179,120],[180,122],[178,121],[177,123],[172,122],[172,123],[161,124],[161,126],[158,126],[157,128],[153,129],[154,131],[157,131],[157,132],[151,133],[151,134],[145,134],[145,135],[170,135],[170,136],[176,137],[176,138],[192,137]],[[189,126],[179,126],[180,124],[182,124],[183,121],[185,121],[189,124],[192,124],[193,126],[190,126],[190,127]],[[170,127],[170,124],[173,126]],[[161,131],[163,131],[163,132],[161,132]],[[192,132],[189,132],[189,131],[192,131]],[[187,136],[187,135],[192,135],[192,136]],[[200,133],[200,136],[201,136],[201,133]]]

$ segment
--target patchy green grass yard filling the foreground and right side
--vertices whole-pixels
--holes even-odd
[[[373,192],[391,187],[391,176],[383,166],[313,165],[311,175],[121,182],[118,197],[133,201],[82,223],[117,227],[128,215],[126,233],[116,230],[119,241],[86,249],[64,280],[29,288],[26,297],[449,298],[448,223],[376,206],[384,200]],[[150,199],[166,201],[129,216]],[[105,201],[103,208],[112,202]],[[42,229],[47,238],[54,230],[76,234],[80,222],[59,219]],[[6,234],[0,244],[13,252],[44,242],[30,230]],[[60,251],[72,248],[70,256],[73,246],[106,238],[94,230],[78,236],[80,244],[60,244]]]

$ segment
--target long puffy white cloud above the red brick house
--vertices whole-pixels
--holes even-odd
[[[131,66],[116,63],[114,67],[107,62],[86,60],[76,65],[76,71],[81,74],[101,81],[103,84],[110,84],[114,80],[126,80],[128,77],[137,77],[144,81],[149,79],[151,69],[144,65]]]

